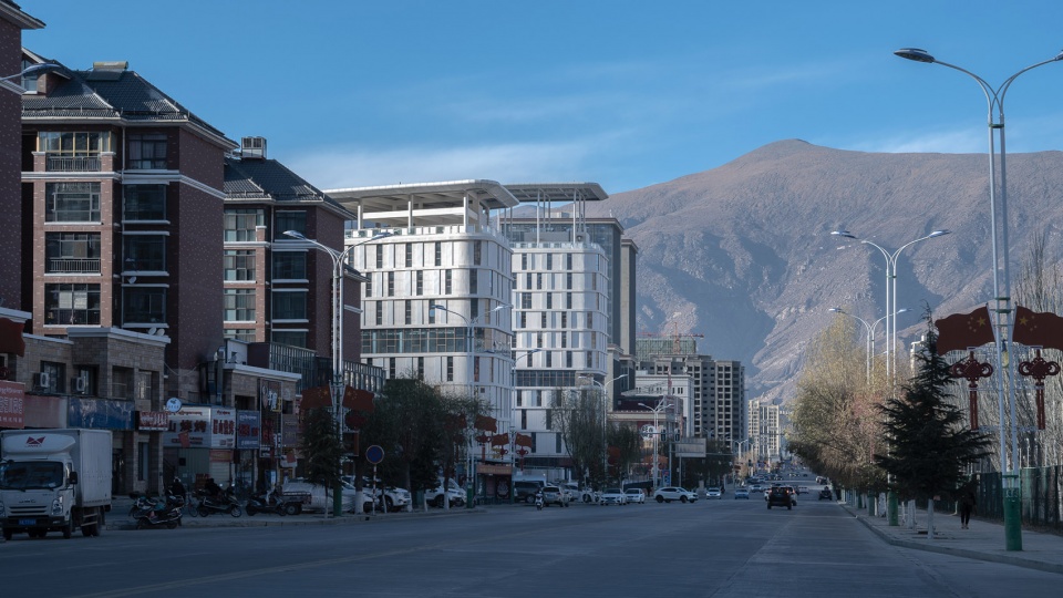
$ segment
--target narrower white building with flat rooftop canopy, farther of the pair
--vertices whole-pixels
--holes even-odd
[[[503,225],[513,247],[513,426],[533,437],[525,467],[558,476],[570,461],[551,417],[557,394],[594,386],[605,391],[611,412],[608,398],[620,384],[610,377],[610,290],[619,260],[615,264],[595,241],[586,218],[587,203],[608,195],[596,183],[506,189],[534,210],[508,214]],[[569,205],[563,212],[551,209],[559,203]],[[619,256],[619,234],[616,251]]]

